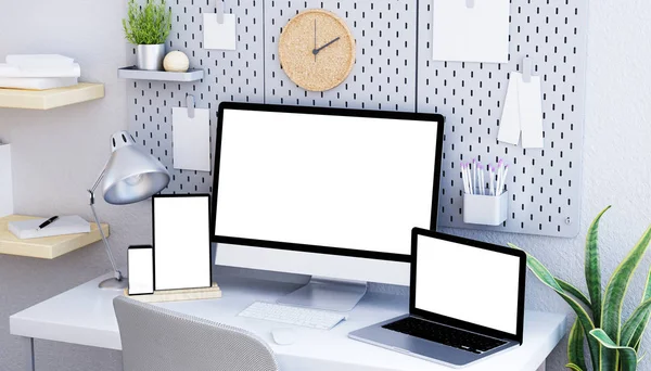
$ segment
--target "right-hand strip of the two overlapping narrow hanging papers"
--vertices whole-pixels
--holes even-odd
[[[541,149],[542,138],[542,97],[540,76],[532,76],[531,82],[524,82],[522,75],[518,85],[520,95],[520,128],[522,129],[522,146]]]

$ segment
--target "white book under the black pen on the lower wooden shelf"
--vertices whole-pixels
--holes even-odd
[[[76,215],[59,217],[59,219],[54,220],[48,227],[37,230],[38,226],[46,220],[48,219],[11,221],[9,223],[9,231],[21,240],[63,234],[90,233],[90,223]]]

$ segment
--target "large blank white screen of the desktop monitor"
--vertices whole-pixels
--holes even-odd
[[[436,121],[225,110],[215,235],[410,254]]]

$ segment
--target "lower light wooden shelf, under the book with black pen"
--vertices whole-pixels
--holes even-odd
[[[90,233],[56,235],[43,239],[21,240],[9,231],[9,222],[37,219],[23,215],[10,215],[0,218],[0,254],[28,256],[41,259],[53,259],[98,242],[102,239],[98,226],[90,223]],[[102,223],[104,234],[108,236],[108,225]]]

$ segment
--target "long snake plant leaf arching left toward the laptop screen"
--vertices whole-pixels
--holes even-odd
[[[521,250],[520,247],[509,244],[512,248]],[[595,338],[588,336],[588,332],[595,329],[595,323],[590,319],[590,316],[586,312],[584,307],[580,306],[572,296],[567,295],[565,291],[559,285],[558,281],[553,278],[553,276],[549,272],[545,266],[538,261],[534,256],[526,254],[526,266],[528,269],[536,276],[540,282],[546,284],[547,286],[553,289],[564,300],[570,305],[570,307],[576,312],[576,319],[580,322],[580,325],[586,334],[586,338],[588,340],[588,348],[590,349],[590,357],[592,359],[592,364],[599,364],[599,344]]]

